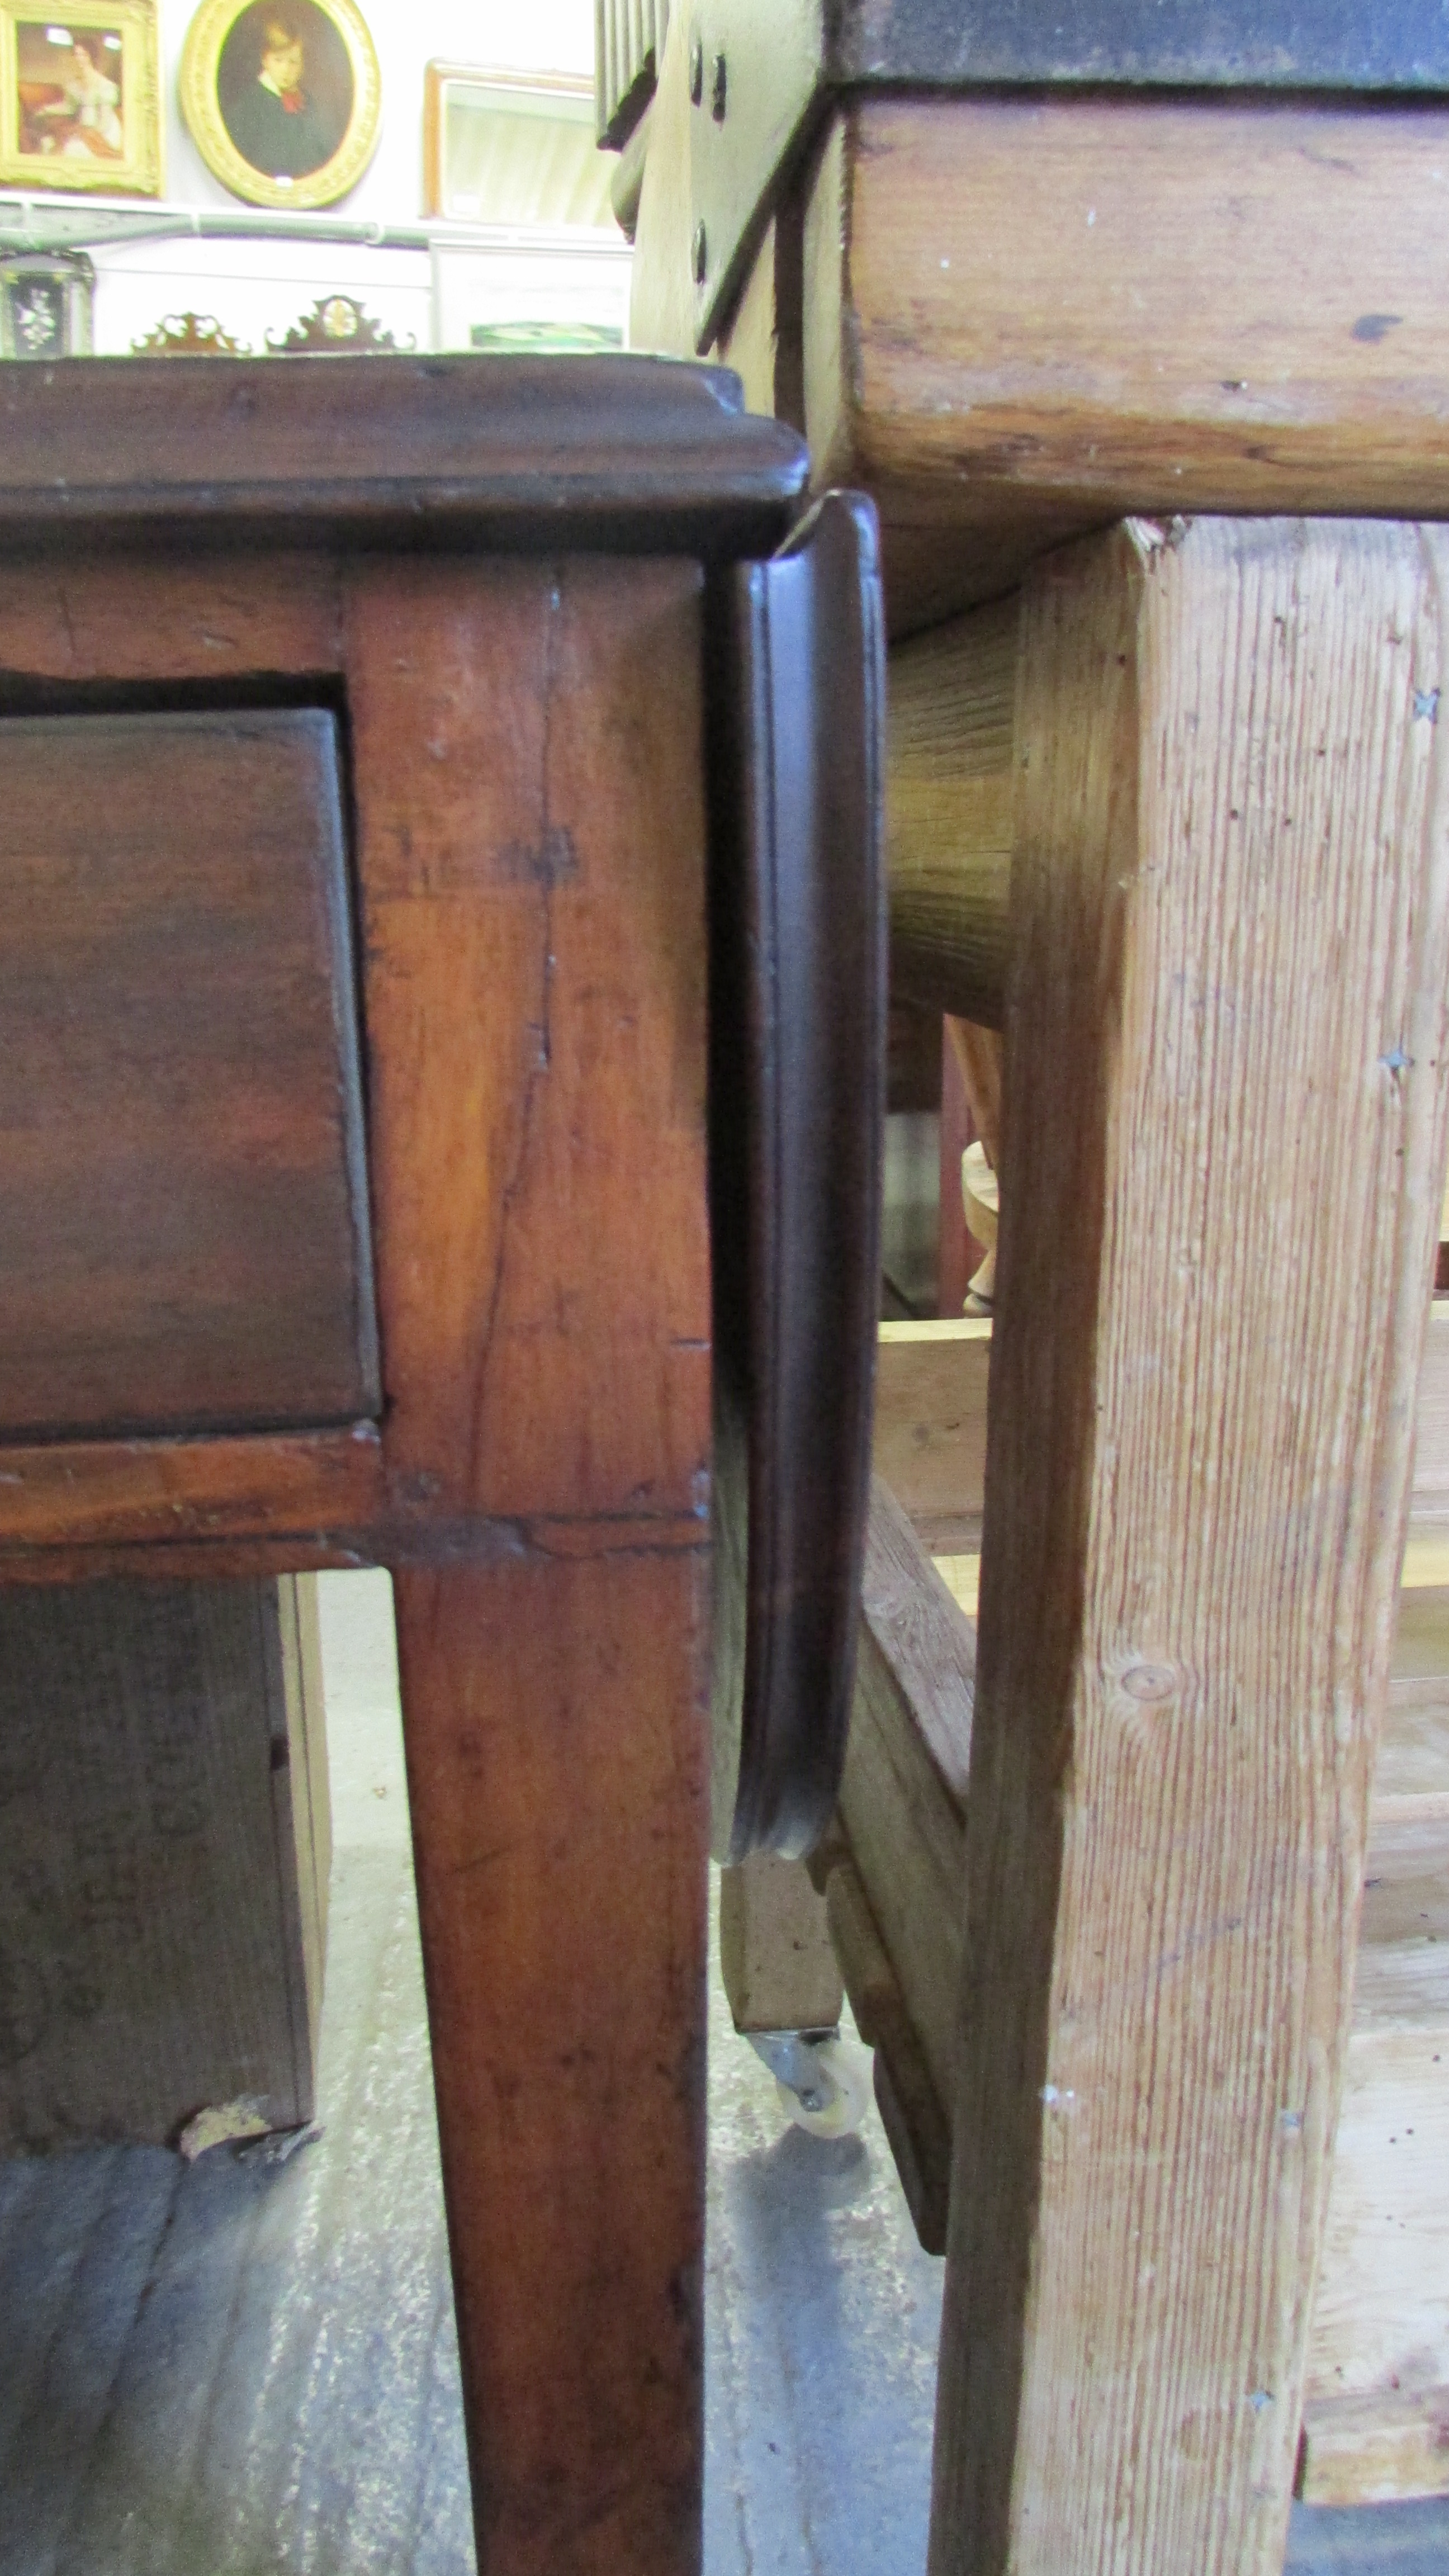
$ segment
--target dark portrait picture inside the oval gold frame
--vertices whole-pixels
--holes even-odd
[[[258,0],[235,21],[217,67],[232,147],[273,180],[299,180],[338,152],[353,113],[348,49],[315,0]]]

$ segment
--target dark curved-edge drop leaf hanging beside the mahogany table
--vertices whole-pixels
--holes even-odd
[[[866,1535],[884,1118],[871,510],[732,577],[712,876],[714,1850],[797,1857],[841,1785]]]

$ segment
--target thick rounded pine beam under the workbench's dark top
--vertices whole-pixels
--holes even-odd
[[[1119,510],[1449,510],[1446,152],[1439,106],[853,106],[807,430],[882,507],[892,631]]]

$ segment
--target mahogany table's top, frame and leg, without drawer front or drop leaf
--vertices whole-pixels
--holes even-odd
[[[0,1577],[402,1569],[482,2566],[694,2576],[701,559],[779,541],[802,453],[663,368],[88,384],[0,376],[0,703],[345,708],[384,1401],[10,1443]]]

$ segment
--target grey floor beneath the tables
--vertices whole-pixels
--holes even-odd
[[[0,2166],[0,2576],[474,2568],[387,1582],[322,1589],[322,2136]],[[918,2576],[941,2267],[882,2130],[789,2128],[719,1989],[709,2110],[706,2576]],[[1449,2504],[1297,2512],[1289,2568],[1444,2576]]]

